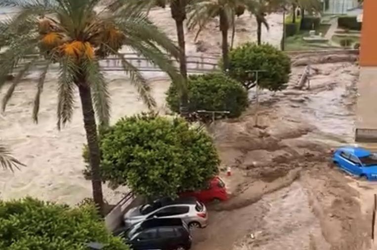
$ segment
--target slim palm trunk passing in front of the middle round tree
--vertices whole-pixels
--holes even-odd
[[[177,29],[177,38],[179,46],[179,71],[183,77],[184,84],[187,86],[187,63],[186,63],[186,46],[185,46],[185,32],[183,28],[183,21],[186,19],[186,5],[185,1],[174,0],[170,4],[171,16],[175,20],[175,27]],[[187,87],[181,90],[180,114],[187,118],[189,114],[188,108],[188,93]]]

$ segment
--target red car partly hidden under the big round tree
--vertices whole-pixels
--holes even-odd
[[[209,185],[206,189],[184,192],[181,193],[180,196],[193,196],[204,203],[211,201],[226,201],[228,199],[225,183],[219,176],[216,176],[211,181],[209,181]]]

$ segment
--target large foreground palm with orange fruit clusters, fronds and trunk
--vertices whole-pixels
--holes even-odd
[[[40,96],[46,73],[49,68],[58,69],[58,129],[71,121],[74,91],[77,87],[89,149],[93,199],[103,212],[95,114],[100,125],[107,125],[110,100],[108,83],[101,72],[99,60],[108,55],[117,57],[148,108],[153,108],[156,103],[150,94],[147,81],[137,68],[118,52],[124,44],[166,71],[174,82],[181,81],[165,55],[167,52],[178,56],[178,48],[145,14],[127,8],[126,4],[123,4],[126,2],[124,0],[112,2],[118,4],[117,10],[110,10],[107,6],[96,12],[94,8],[100,1],[0,0],[0,6],[13,5],[19,8],[15,17],[4,22],[6,25],[0,35],[0,41],[6,46],[0,57],[0,80],[13,69],[13,65],[18,65],[18,73],[3,99],[4,109],[25,74],[35,70],[37,66],[42,69],[33,109],[33,119],[38,122]],[[6,36],[12,32],[17,35]],[[28,56],[28,51],[33,48],[38,48],[39,53]]]

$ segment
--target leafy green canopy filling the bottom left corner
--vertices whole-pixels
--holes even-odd
[[[89,250],[89,242],[104,250],[128,250],[123,240],[111,236],[94,206],[77,208],[33,198],[0,202],[0,249]]]

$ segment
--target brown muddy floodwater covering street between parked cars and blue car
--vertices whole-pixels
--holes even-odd
[[[361,209],[358,183],[329,165],[332,147],[353,140],[358,67],[313,65],[310,89],[262,94],[259,125],[251,109],[210,130],[234,187],[214,206],[210,225],[198,230],[194,250],[366,250],[369,205]],[[251,99],[253,93],[251,93]]]

